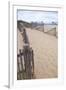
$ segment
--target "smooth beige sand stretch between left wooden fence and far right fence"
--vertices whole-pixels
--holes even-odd
[[[57,38],[37,30],[26,29],[26,31],[34,50],[36,78],[57,77]]]

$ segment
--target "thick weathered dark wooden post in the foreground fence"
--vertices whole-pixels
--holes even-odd
[[[30,48],[29,45],[25,45],[24,46],[24,62],[25,62],[25,71],[26,71],[26,78],[27,79],[31,79],[31,52],[30,52]]]

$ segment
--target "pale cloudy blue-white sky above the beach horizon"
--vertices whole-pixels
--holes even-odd
[[[17,20],[23,20],[27,22],[58,22],[58,12],[55,11],[17,11]]]

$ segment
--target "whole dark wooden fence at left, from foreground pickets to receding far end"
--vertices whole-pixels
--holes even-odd
[[[34,52],[30,47],[29,40],[26,34],[26,29],[19,26],[23,37],[23,50],[19,50],[17,55],[17,80],[34,78]]]

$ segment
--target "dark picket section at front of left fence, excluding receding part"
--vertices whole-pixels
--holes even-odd
[[[34,54],[32,48],[24,47],[17,55],[17,79],[31,79],[34,76]]]

